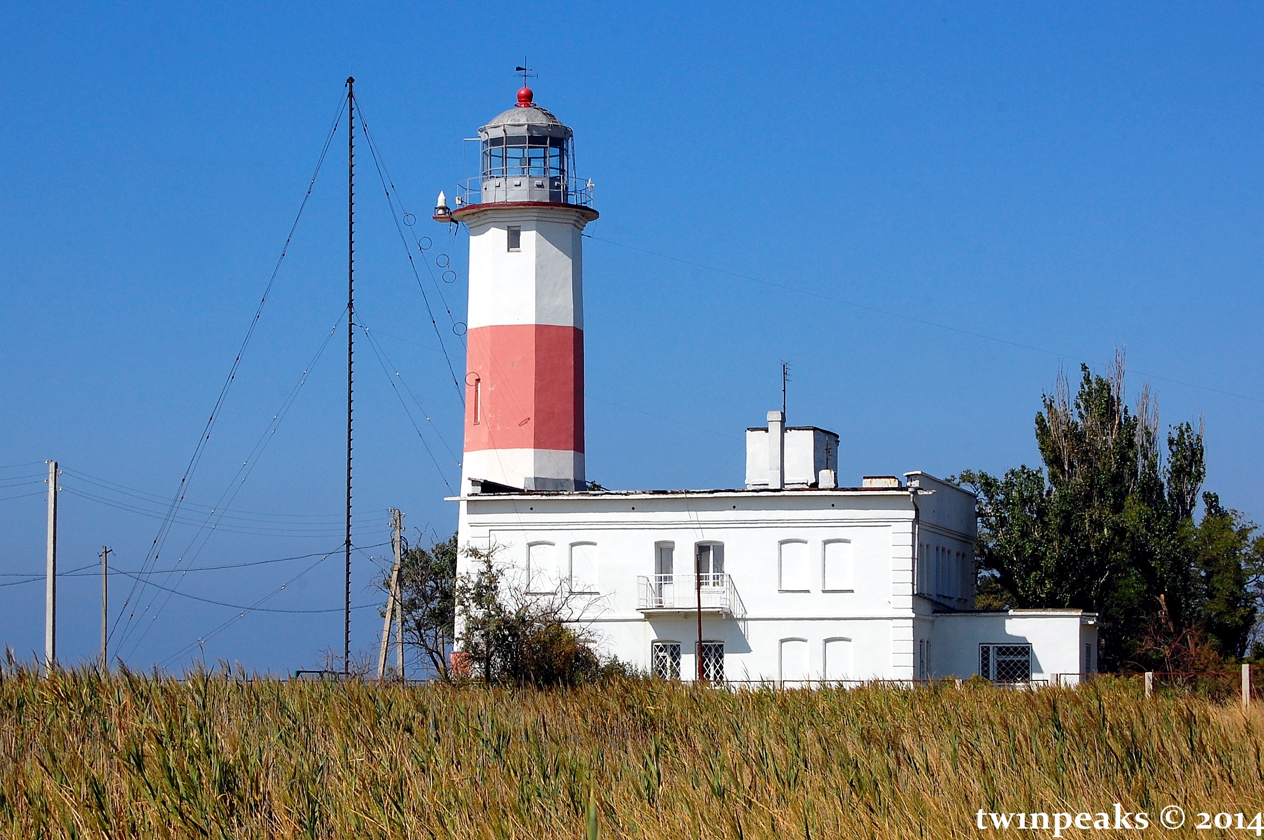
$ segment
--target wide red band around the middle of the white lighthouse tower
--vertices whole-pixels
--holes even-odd
[[[469,331],[465,451],[584,451],[584,331],[541,323]]]

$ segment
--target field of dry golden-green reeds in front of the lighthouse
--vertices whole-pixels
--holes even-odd
[[[0,672],[9,837],[978,837],[1146,811],[1254,836],[1264,717],[1135,682],[566,691]],[[1191,820],[1158,824],[1167,805]]]

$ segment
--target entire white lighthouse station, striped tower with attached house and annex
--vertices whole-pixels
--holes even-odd
[[[586,490],[580,232],[598,213],[570,129],[532,99],[479,129],[482,174],[435,211],[470,230],[459,544],[495,547],[541,597],[576,594],[607,652],[671,678],[1095,671],[1091,614],[973,611],[969,493],[924,472],[836,486],[838,436],[781,412],[747,429],[744,488]]]

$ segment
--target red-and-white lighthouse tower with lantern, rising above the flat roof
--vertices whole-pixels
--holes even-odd
[[[470,232],[461,494],[583,490],[592,187],[575,178],[571,130],[528,87],[478,134],[480,174],[435,208]]]

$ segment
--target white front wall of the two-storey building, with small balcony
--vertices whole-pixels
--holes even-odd
[[[695,616],[637,609],[637,577],[653,575],[655,546],[674,543],[675,572],[691,573],[695,546],[722,542],[746,616],[707,615],[703,635],[724,640],[729,678],[780,678],[784,639],[805,640],[811,680],[825,677],[828,639],[851,642],[849,678],[911,676],[913,507],[905,489],[488,495],[468,496],[461,507],[461,544],[498,546],[498,560],[523,576],[533,543],[554,544],[560,567],[571,546],[590,543],[600,596],[589,619],[609,652],[638,667],[650,667],[651,642],[670,639],[681,643],[683,675],[695,668]],[[832,591],[827,546],[839,571]],[[796,566],[789,589],[785,558]],[[560,568],[554,582],[565,573]]]

